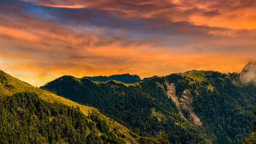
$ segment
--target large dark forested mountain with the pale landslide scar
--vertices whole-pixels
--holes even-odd
[[[41,88],[90,104],[138,133],[163,130],[171,143],[239,143],[251,130],[255,85],[240,73],[187,71],[140,83],[62,76]]]

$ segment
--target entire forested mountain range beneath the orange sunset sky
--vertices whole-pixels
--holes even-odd
[[[255,70],[62,76],[40,88],[0,71],[0,143],[240,143]]]

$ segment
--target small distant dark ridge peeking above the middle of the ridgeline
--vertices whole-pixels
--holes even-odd
[[[141,80],[141,77],[138,75],[130,75],[130,74],[116,74],[112,76],[94,76],[94,77],[83,77],[87,78],[89,80],[98,81],[98,82],[108,82],[109,80],[117,80],[123,83],[137,83],[137,82],[143,82],[145,80],[150,80],[153,78],[156,78],[157,76],[153,77],[145,77],[143,80]]]

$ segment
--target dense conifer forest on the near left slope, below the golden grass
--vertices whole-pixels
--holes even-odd
[[[34,93],[0,98],[0,143],[125,143],[105,121]]]

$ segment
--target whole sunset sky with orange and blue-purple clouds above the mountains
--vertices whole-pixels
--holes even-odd
[[[255,0],[0,0],[0,70],[63,75],[240,72],[256,58]]]

